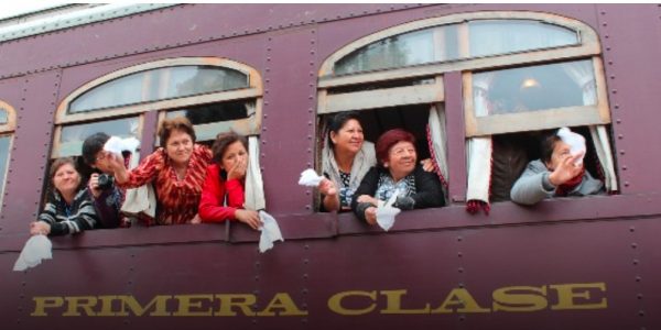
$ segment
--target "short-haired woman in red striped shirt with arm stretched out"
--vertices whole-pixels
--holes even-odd
[[[152,183],[158,224],[199,223],[197,206],[212,152],[195,143],[193,125],[184,117],[163,120],[159,138],[161,147],[131,170],[126,169],[121,155],[111,154],[115,182],[122,188]]]

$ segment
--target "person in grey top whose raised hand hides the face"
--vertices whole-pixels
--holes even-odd
[[[511,200],[534,205],[544,198],[586,196],[604,191],[604,183],[594,178],[581,161],[584,152],[572,154],[571,146],[555,131],[541,142],[541,158],[528,163],[512,186]]]

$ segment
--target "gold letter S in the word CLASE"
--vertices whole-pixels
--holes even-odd
[[[492,298],[494,311],[535,311],[549,306],[545,286],[502,287],[494,292]]]

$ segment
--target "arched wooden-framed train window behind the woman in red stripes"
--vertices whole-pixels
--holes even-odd
[[[262,87],[259,73],[226,58],[181,57],[140,64],[96,78],[62,101],[56,113],[54,158],[73,156],[83,179],[95,170],[80,157],[84,140],[97,132],[137,138],[143,152],[160,146],[145,145],[165,118],[183,116],[194,127],[197,142],[210,146],[221,132],[236,132],[249,141],[251,166],[247,179],[247,204],[264,208],[259,173]],[[145,127],[148,112],[156,112],[156,124]],[[132,168],[140,155],[131,156]],[[254,168],[257,170],[253,170]],[[45,183],[52,189],[51,183]],[[248,187],[250,186],[250,187]],[[250,197],[248,197],[250,195]]]

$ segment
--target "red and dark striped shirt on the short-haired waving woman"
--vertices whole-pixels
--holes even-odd
[[[156,193],[156,223],[188,223],[197,215],[202,186],[206,177],[206,167],[212,163],[212,151],[199,144],[193,146],[186,176],[176,177],[176,172],[165,150],[159,147],[147,156],[138,167],[129,172],[128,182],[122,188],[137,188],[152,183]],[[151,223],[150,223],[151,224]]]

